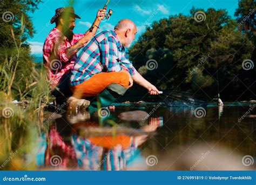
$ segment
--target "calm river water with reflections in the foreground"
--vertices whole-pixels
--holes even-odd
[[[116,104],[2,118],[1,169],[255,170],[256,104],[224,104]]]

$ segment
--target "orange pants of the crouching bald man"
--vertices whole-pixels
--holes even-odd
[[[125,72],[102,72],[94,74],[82,84],[71,87],[73,97],[92,97],[102,92],[110,84],[129,86],[129,76]]]

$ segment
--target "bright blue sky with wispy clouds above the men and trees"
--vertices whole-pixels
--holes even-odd
[[[31,14],[36,33],[33,38],[28,40],[32,54],[37,57],[42,56],[44,40],[51,29],[55,27],[55,24],[50,24],[55,10],[69,4],[68,0],[42,1],[38,6],[39,9]],[[95,20],[98,9],[103,8],[106,2],[107,0],[74,0],[72,6],[81,19],[76,19],[76,27],[73,32],[86,32]],[[139,35],[145,31],[146,26],[154,20],[178,13],[189,15],[192,6],[204,10],[208,8],[226,9],[228,15],[234,18],[238,0],[110,0],[107,11],[112,9],[113,14],[109,20],[103,20],[100,23],[98,32],[113,29],[120,19],[128,18],[137,25],[136,39],[138,39]]]

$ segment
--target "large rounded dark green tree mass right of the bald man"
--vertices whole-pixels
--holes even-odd
[[[218,78],[220,91],[224,89],[227,98],[235,97],[242,87],[235,76],[242,71],[242,61],[251,57],[253,43],[225,10],[192,8],[190,13],[154,22],[129,50],[130,60],[161,90],[213,98],[218,94]],[[150,59],[157,61],[154,70],[146,66]]]

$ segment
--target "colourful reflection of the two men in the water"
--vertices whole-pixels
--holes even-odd
[[[57,119],[49,133],[45,136],[45,147],[41,147],[41,155],[44,159],[38,160],[39,166],[59,167],[64,169],[84,169],[84,170],[124,170],[134,161],[143,159],[140,156],[138,147],[148,138],[148,134],[156,131],[160,126],[159,118],[149,118],[149,123],[145,124],[139,132],[133,129],[125,131],[125,128],[112,135],[112,132],[99,131],[91,134],[81,135],[83,129],[99,128],[93,121],[80,121],[71,127],[66,125],[66,120]],[[143,160],[145,161],[145,160]]]

